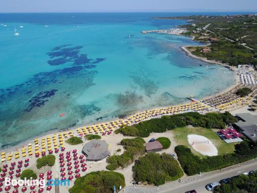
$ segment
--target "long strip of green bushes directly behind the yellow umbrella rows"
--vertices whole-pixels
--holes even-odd
[[[162,116],[151,120],[142,121],[133,126],[122,126],[115,133],[122,133],[128,136],[148,137],[150,133],[161,133],[172,130],[177,127],[192,125],[194,127],[204,128],[225,128],[225,123],[233,124],[237,119],[229,112],[225,113],[207,113],[201,115],[196,112],[177,114],[171,116]]]

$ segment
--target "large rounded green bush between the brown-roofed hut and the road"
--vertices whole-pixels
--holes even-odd
[[[167,153],[155,152],[139,157],[133,166],[133,178],[137,182],[148,182],[156,186],[181,178],[183,171],[178,162]]]

